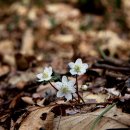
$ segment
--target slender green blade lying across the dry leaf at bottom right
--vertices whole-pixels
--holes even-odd
[[[94,130],[94,128],[96,127],[96,125],[99,123],[100,119],[102,118],[102,116],[107,113],[111,108],[113,108],[115,105],[117,104],[116,103],[113,103],[112,105],[109,105],[96,119],[95,121],[93,122],[90,130]]]

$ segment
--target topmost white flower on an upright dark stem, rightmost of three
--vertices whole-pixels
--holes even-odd
[[[70,62],[69,64],[70,67],[70,73],[72,75],[82,75],[86,72],[88,68],[88,64],[82,63],[82,60],[79,58],[74,62]]]

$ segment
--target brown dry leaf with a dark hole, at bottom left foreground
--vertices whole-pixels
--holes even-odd
[[[54,107],[54,106],[53,106]],[[33,110],[21,123],[19,130],[39,130],[53,129],[54,113],[50,112],[53,107],[38,107]],[[45,120],[42,120],[42,115],[47,114]]]

